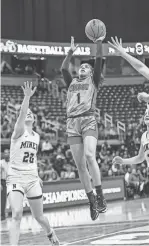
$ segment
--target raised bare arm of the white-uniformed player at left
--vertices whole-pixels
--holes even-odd
[[[24,133],[24,124],[25,124],[27,110],[29,107],[29,101],[30,101],[31,96],[34,94],[36,87],[32,89],[32,82],[27,81],[24,83],[24,87],[22,86],[22,89],[24,92],[24,99],[21,105],[19,117],[14,127],[14,132],[12,134],[13,139],[17,139],[21,137]]]

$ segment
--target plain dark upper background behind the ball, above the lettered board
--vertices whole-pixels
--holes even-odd
[[[2,0],[2,38],[89,42],[85,24],[101,19],[107,38],[124,42],[149,40],[149,0]]]

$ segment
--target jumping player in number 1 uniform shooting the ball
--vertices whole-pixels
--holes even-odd
[[[72,79],[69,72],[69,64],[78,46],[75,46],[74,37],[71,37],[71,47],[61,68],[64,80],[68,86],[68,143],[78,168],[80,180],[89,199],[92,220],[97,219],[99,213],[105,212],[107,209],[101,187],[100,170],[96,161],[98,130],[94,116],[97,91],[101,79],[102,40],[104,38],[96,40],[97,53],[94,69],[90,64],[84,63],[79,68],[79,78]],[[93,193],[91,177],[97,196]]]

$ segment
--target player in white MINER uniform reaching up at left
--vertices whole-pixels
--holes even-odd
[[[25,82],[24,100],[11,138],[10,165],[7,176],[8,199],[12,210],[10,244],[18,245],[20,222],[23,212],[23,198],[26,195],[33,216],[45,230],[52,245],[59,245],[54,230],[43,215],[43,199],[37,171],[37,150],[39,135],[33,131],[34,116],[29,109],[32,83]]]

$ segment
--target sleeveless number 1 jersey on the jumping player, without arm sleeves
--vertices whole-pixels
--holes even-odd
[[[87,115],[95,111],[97,88],[91,76],[74,78],[67,92],[67,117]]]

